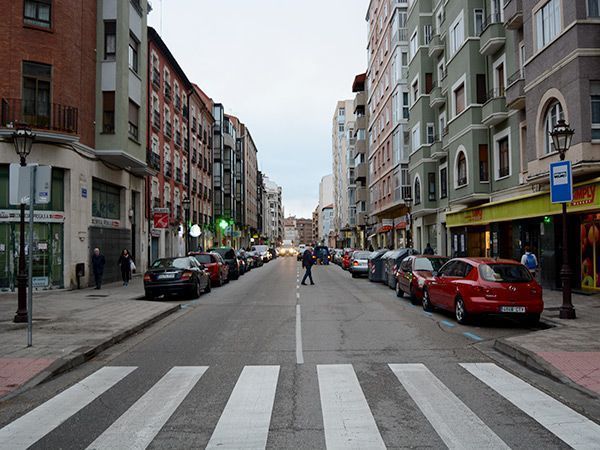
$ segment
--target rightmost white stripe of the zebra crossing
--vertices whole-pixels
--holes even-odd
[[[600,425],[493,363],[461,364],[573,448],[600,448]]]

